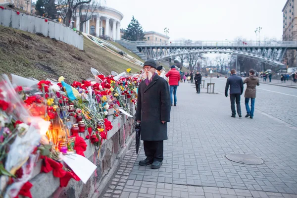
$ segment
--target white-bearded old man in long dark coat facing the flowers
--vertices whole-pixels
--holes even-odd
[[[163,161],[163,141],[167,140],[167,122],[170,121],[170,95],[168,83],[156,74],[156,62],[144,63],[144,79],[138,87],[136,120],[141,123],[141,140],[147,158],[139,165],[151,164],[158,169]]]

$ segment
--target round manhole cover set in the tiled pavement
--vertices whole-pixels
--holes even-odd
[[[264,163],[263,159],[253,155],[247,155],[247,154],[230,153],[226,155],[226,158],[229,159],[230,161],[234,161],[242,164],[249,164],[249,165],[258,165],[258,164]]]

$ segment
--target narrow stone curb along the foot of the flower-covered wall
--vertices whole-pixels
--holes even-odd
[[[100,195],[102,194],[102,192],[104,192],[104,189],[106,188],[107,184],[113,178],[114,173],[118,169],[118,166],[120,165],[122,159],[126,155],[127,150],[132,145],[134,139],[135,139],[135,132],[133,132],[133,134],[130,136],[130,138],[128,139],[128,141],[126,143],[126,147],[124,147],[124,148],[121,149],[121,151],[119,152],[119,154],[116,156],[116,158],[115,158],[115,160],[114,160],[114,162],[113,162],[110,170],[108,171],[107,175],[105,175],[105,177],[100,182],[100,185],[99,185],[98,189],[96,190],[97,191],[97,195],[96,196],[98,198],[100,197]]]

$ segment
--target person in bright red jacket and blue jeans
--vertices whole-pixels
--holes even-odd
[[[176,106],[176,90],[178,83],[181,79],[181,75],[179,71],[176,70],[175,66],[172,65],[170,71],[166,74],[166,77],[169,77],[169,86],[170,86],[170,100],[171,100],[171,106],[173,104],[173,99],[172,99],[172,93],[174,96],[174,106]]]

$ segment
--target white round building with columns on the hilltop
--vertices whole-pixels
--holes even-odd
[[[88,13],[90,16],[90,12]],[[81,18],[84,18],[84,12]],[[112,40],[120,40],[120,27],[121,20],[124,15],[117,11],[116,9],[110,7],[99,7],[93,14],[90,20],[84,22],[83,29],[80,30],[80,17],[79,12],[77,12],[74,18],[76,30],[91,34],[94,36],[106,35]]]

